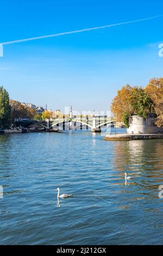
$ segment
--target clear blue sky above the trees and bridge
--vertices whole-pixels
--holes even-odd
[[[0,42],[163,14],[162,1],[5,0]],[[163,17],[97,31],[5,45],[0,85],[22,102],[106,111],[118,89],[163,76]]]

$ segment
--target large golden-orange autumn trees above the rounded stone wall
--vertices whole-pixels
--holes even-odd
[[[152,78],[145,88],[129,84],[118,90],[112,100],[111,111],[116,121],[122,121],[129,128],[132,115],[144,118],[156,114],[156,125],[163,126],[163,78]]]

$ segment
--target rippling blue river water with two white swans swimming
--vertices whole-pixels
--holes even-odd
[[[163,242],[163,140],[73,131],[1,135],[0,146],[1,245]],[[58,187],[73,197],[58,202]]]

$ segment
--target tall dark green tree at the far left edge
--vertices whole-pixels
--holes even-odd
[[[9,93],[0,87],[0,126],[5,127],[9,124],[11,107],[9,103]]]

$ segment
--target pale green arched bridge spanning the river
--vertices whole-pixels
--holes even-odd
[[[20,120],[16,122],[16,125],[28,127],[30,125],[37,125],[39,129],[45,129],[46,131],[56,130],[61,128],[62,130],[80,129],[84,130],[90,128],[92,132],[101,132],[101,127],[106,125],[115,124],[115,120],[110,117],[91,117],[91,118],[55,118],[47,120]],[[77,125],[78,124],[78,125]]]

